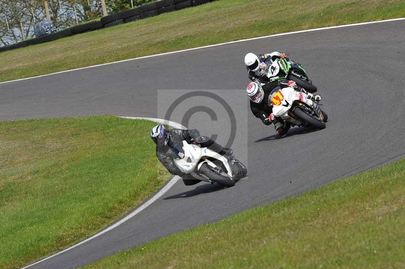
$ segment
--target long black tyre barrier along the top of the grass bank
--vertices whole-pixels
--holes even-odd
[[[92,21],[84,24],[79,24],[56,33],[51,33],[32,39],[27,39],[12,45],[0,47],[0,52],[23,48],[30,45],[40,44],[53,41],[69,35],[94,31],[100,28],[106,28],[126,22],[132,22],[149,17],[153,17],[162,13],[181,10],[188,7],[198,6],[214,0],[160,0],[150,2],[139,6],[135,9],[123,10],[118,13],[107,15],[99,21]]]

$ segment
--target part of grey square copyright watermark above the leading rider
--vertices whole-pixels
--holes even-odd
[[[240,125],[244,125],[240,120],[244,117],[235,112],[238,107],[229,103],[237,94],[240,91],[159,90],[158,117],[167,120],[166,123],[174,121],[186,128],[198,129],[201,136],[209,136],[230,148],[235,143],[238,130],[242,129]],[[249,101],[244,103],[249,104]],[[247,128],[247,120],[245,125]]]

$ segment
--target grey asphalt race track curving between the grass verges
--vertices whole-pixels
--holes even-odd
[[[179,181],[134,218],[32,267],[70,268],[200,223],[264,205],[405,157],[405,21],[269,37],[0,84],[0,120],[87,115],[157,117],[156,89],[245,89],[247,52],[287,52],[323,96],[327,128],[294,128],[278,139],[248,110],[243,91],[227,103],[242,111],[248,151],[232,145],[249,177],[221,189]],[[227,92],[229,93],[229,92]],[[175,120],[176,118],[171,118]],[[198,120],[211,121],[198,113]],[[215,124],[215,123],[212,123]],[[205,130],[207,131],[207,130]],[[218,133],[226,142],[226,128]],[[222,136],[223,135],[223,136]]]

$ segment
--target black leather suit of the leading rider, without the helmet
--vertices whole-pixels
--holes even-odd
[[[171,174],[183,177],[183,182],[185,185],[194,185],[200,181],[188,174],[184,174],[173,161],[175,158],[178,158],[173,149],[175,146],[182,143],[183,140],[189,144],[195,142],[201,147],[208,147],[209,149],[220,154],[224,154],[224,151],[227,149],[223,148],[210,137],[200,136],[197,129],[183,130],[174,128],[169,130],[169,143],[165,146],[156,146],[156,156]]]

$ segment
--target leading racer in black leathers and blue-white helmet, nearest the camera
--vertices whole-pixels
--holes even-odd
[[[179,175],[183,178],[185,185],[194,185],[199,183],[199,180],[184,174],[174,163],[174,158],[177,154],[174,152],[174,147],[186,141],[188,144],[198,144],[200,147],[207,147],[221,155],[228,157],[233,156],[233,151],[230,148],[224,148],[213,139],[207,136],[200,136],[197,129],[177,129],[168,130],[163,125],[156,125],[150,130],[150,138],[156,144],[156,157],[168,171],[173,175]]]

